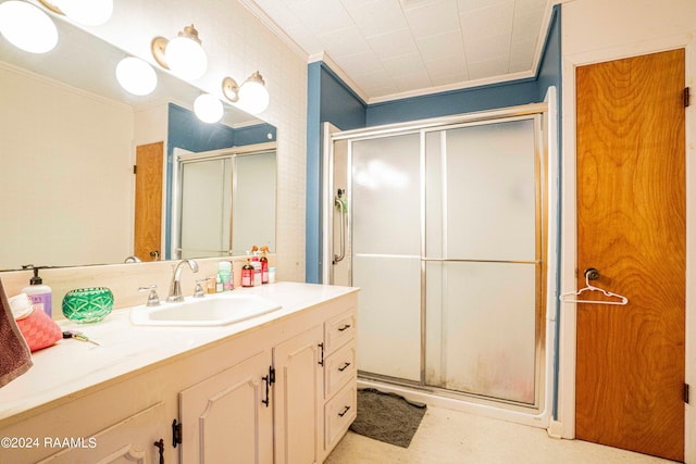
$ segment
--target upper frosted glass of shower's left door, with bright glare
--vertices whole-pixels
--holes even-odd
[[[419,140],[412,134],[352,143],[353,253],[420,254]]]

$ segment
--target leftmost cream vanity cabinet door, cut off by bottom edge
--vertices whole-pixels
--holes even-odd
[[[171,449],[166,441],[171,435],[171,424],[164,417],[164,403],[157,403],[90,437],[44,438],[41,446],[63,450],[39,463],[158,463],[160,451],[154,442],[164,439],[165,450]]]

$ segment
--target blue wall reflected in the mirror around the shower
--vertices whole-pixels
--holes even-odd
[[[221,148],[266,142],[269,134],[275,140],[275,127],[270,124],[234,129],[221,123],[208,124],[200,121],[191,111],[169,104],[166,135],[166,229],[164,231],[164,258],[170,260],[172,247],[172,172],[174,166],[174,147],[189,151],[209,151]]]

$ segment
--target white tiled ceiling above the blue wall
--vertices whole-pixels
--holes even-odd
[[[366,102],[534,75],[555,3],[243,1],[310,61],[328,62]]]

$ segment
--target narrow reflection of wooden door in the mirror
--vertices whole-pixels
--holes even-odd
[[[162,259],[162,164],[164,142],[136,148],[135,246],[142,261]]]

